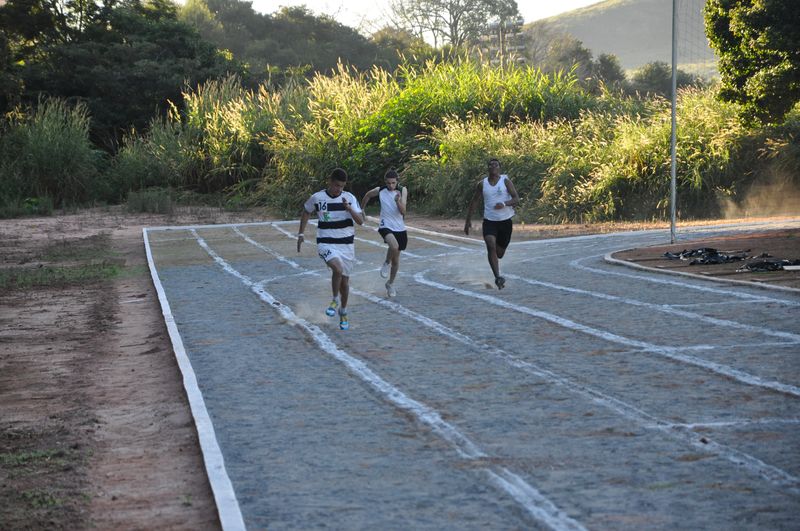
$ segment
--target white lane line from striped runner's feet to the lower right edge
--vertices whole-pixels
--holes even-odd
[[[710,438],[707,436],[694,434],[691,432],[691,430],[682,428],[680,425],[667,423],[632,404],[609,396],[602,391],[587,385],[583,385],[568,376],[555,373],[552,370],[543,367],[541,364],[537,365],[535,363],[520,359],[500,348],[492,347],[485,343],[476,341],[469,336],[448,328],[438,321],[410,310],[401,304],[386,299],[381,299],[363,291],[352,290],[351,292],[369,300],[370,302],[384,306],[395,313],[409,317],[436,331],[438,334],[453,339],[477,352],[483,352],[494,356],[495,358],[504,361],[511,367],[520,369],[551,384],[562,386],[568,391],[580,395],[591,402],[594,402],[595,404],[605,407],[606,409],[617,413],[621,417],[626,418],[643,428],[661,431],[665,436],[673,440],[680,441],[681,443],[688,444],[696,450],[701,450],[705,453],[722,457],[737,467],[742,466],[752,474],[760,476],[770,483],[779,485],[781,487],[786,487],[792,492],[800,492],[800,478],[792,476],[780,468],[764,463],[760,459],[757,459],[749,454],[734,448],[730,448],[723,444],[716,443],[710,440]]]

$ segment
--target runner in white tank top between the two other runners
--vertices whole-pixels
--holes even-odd
[[[404,217],[406,215],[406,202],[408,201],[408,189],[398,188],[397,171],[391,169],[383,176],[386,186],[373,188],[364,194],[361,200],[361,210],[367,207],[367,203],[377,196],[381,202],[381,222],[378,232],[383,241],[389,246],[386,251],[386,260],[381,267],[381,276],[389,277],[386,282],[386,293],[389,297],[397,295],[394,287],[394,279],[397,270],[400,269],[400,251],[405,251],[408,244],[408,234]]]

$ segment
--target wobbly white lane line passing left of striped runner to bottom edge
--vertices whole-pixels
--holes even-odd
[[[263,288],[258,287],[257,283],[253,282],[248,276],[228,264],[225,259],[208,246],[196,231],[193,230],[192,232],[197,238],[197,243],[226,273],[238,278],[270,308],[275,309],[289,324],[305,331],[324,352],[341,362],[353,375],[372,387],[387,402],[410,413],[419,422],[427,425],[434,433],[449,442],[463,459],[474,461],[487,457],[475,443],[463,435],[455,426],[443,420],[436,410],[408,397],[400,389],[373,372],[366,363],[340,349],[322,329],[298,317],[291,308],[277,300]],[[499,473],[493,470],[493,467],[484,467],[484,471],[490,477],[506,478],[505,482],[497,482],[496,484],[517,500],[531,516],[548,527],[556,530],[584,529],[579,522],[558,509],[538,490],[526,483],[522,478],[511,474],[505,468],[499,468]],[[517,480],[511,481],[513,478]]]

